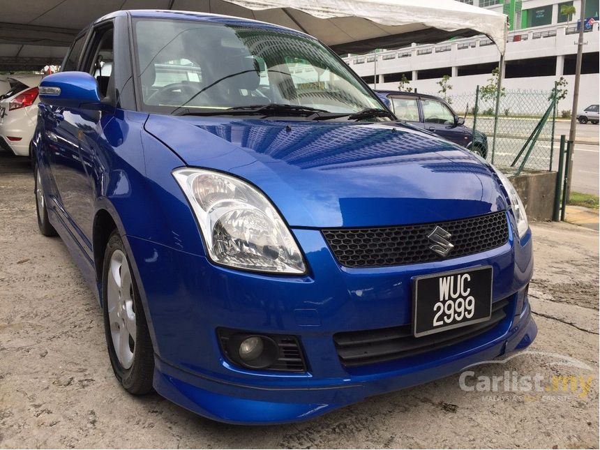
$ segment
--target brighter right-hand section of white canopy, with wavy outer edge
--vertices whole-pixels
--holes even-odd
[[[228,1],[253,10],[258,20],[315,36],[340,54],[476,34],[487,35],[504,54],[507,42],[507,16],[455,0]]]

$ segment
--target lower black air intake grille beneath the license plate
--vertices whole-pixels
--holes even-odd
[[[336,344],[338,357],[346,367],[413,357],[458,344],[490,331],[509,315],[511,298],[507,297],[492,304],[490,320],[462,328],[415,338],[412,336],[410,324],[407,324],[401,327],[336,333],[333,335],[333,341]]]

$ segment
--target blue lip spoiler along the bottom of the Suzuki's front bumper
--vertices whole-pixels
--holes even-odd
[[[370,396],[437,380],[473,363],[522,350],[537,335],[529,304],[518,318],[518,325],[486,346],[452,354],[435,364],[410,366],[377,377],[328,380],[323,386],[267,389],[201,377],[156,357],[154,387],[172,402],[216,421],[246,425],[303,421]]]

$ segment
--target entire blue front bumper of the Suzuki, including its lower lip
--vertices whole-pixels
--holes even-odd
[[[293,230],[311,269],[303,277],[216,267],[205,257],[127,237],[156,352],[154,386],[175,403],[218,421],[282,423],[526,347],[537,333],[526,299],[532,242],[530,233],[518,241],[514,229],[511,223],[508,243],[485,253],[379,269],[340,267],[320,231]],[[412,277],[483,264],[494,268],[493,301],[511,300],[509,314],[493,330],[396,361],[352,368],[340,363],[333,334],[410,323]],[[234,366],[220,350],[219,327],[297,336],[308,370]]]

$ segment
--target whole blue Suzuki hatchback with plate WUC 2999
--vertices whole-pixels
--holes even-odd
[[[130,393],[299,421],[535,338],[508,179],[396,121],[304,33],[120,11],[40,99],[40,231],[98,294]]]

